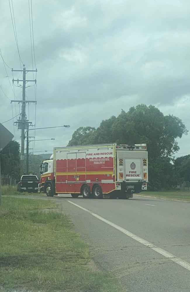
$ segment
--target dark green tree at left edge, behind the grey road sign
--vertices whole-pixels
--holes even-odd
[[[10,141],[1,151],[1,173],[20,178],[20,144]]]

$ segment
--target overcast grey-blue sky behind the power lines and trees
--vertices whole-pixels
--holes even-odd
[[[32,69],[28,1],[13,0],[13,8],[20,56],[26,69]],[[20,69],[8,1],[0,2],[0,11],[3,58],[11,68]],[[32,13],[38,70],[36,127],[70,125],[37,130],[36,140],[56,140],[36,142],[35,151],[65,146],[78,127],[97,127],[102,119],[140,103],[156,105],[190,129],[189,0],[32,0]],[[12,85],[11,69],[6,69]],[[14,79],[20,75],[16,73]],[[13,100],[5,76],[0,60],[0,85]],[[29,77],[33,79],[32,73]],[[22,89],[14,88],[22,99]],[[26,92],[28,100],[35,100],[34,87]],[[1,88],[0,99],[4,122],[12,118],[12,107]],[[13,104],[13,116],[18,113],[19,105]],[[28,118],[28,106],[26,113]],[[33,124],[34,114],[30,104]],[[4,126],[14,134],[12,121]],[[14,128],[20,142],[20,130]],[[34,131],[29,133],[34,136]],[[190,153],[189,135],[179,140],[179,146],[177,156]]]

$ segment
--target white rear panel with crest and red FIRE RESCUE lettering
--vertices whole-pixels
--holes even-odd
[[[140,159],[125,159],[126,179],[142,179]]]

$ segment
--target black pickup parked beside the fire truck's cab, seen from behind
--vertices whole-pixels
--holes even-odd
[[[22,175],[20,182],[17,184],[19,192],[37,192],[39,180],[36,175]]]

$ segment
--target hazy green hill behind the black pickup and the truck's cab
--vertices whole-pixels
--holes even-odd
[[[44,153],[44,154],[29,154],[29,173],[37,175],[40,178],[39,167],[43,160],[49,159],[52,153]],[[26,157],[25,157],[26,160]],[[26,162],[24,163],[24,171],[26,171]]]

